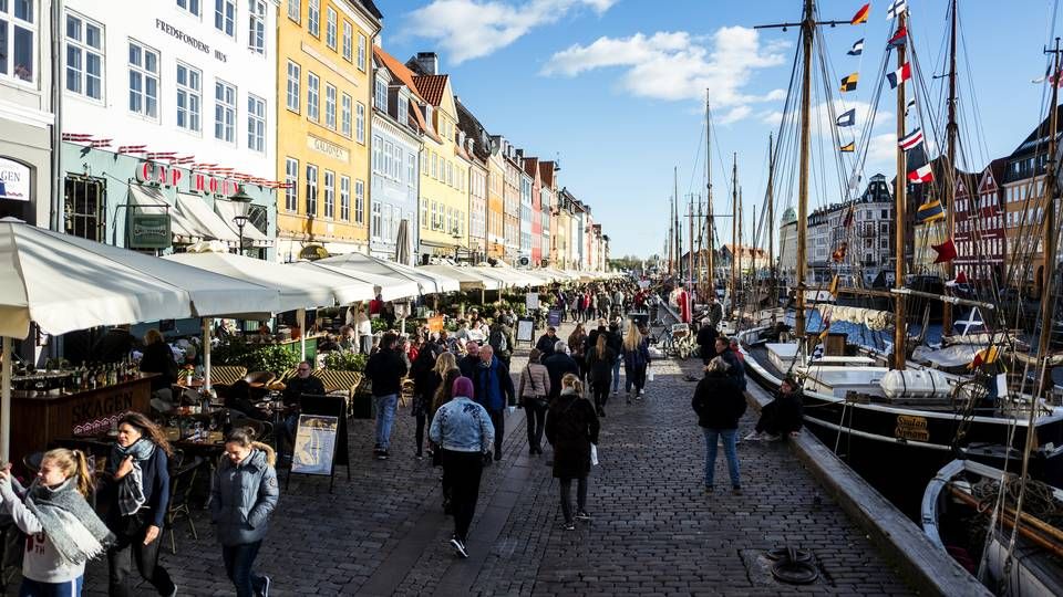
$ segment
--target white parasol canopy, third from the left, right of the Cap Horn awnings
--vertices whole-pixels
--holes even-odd
[[[373,297],[373,285],[233,253],[178,253],[163,259],[280,291],[278,311],[332,306]]]

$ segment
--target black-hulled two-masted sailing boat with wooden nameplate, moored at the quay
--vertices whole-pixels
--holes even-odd
[[[941,300],[933,293],[914,290],[906,272],[906,218],[909,171],[904,149],[897,148],[898,181],[895,186],[894,209],[894,287],[879,293],[894,303],[892,314],[870,310],[853,310],[845,314],[839,307],[829,311],[836,317],[847,315],[869,327],[892,328],[889,366],[883,366],[873,355],[854,355],[846,349],[844,338],[829,336],[829,327],[818,335],[806,329],[808,304],[805,292],[807,280],[808,186],[811,132],[809,112],[814,43],[819,39],[821,25],[849,24],[849,21],[818,21],[814,0],[804,0],[804,15],[799,23],[768,27],[799,27],[802,43],[798,64],[799,91],[799,170],[797,195],[796,243],[796,311],[794,328],[780,335],[777,328],[752,328],[740,334],[747,357],[747,373],[763,387],[774,390],[786,375],[804,381],[805,423],[835,451],[844,452],[850,463],[861,469],[873,483],[876,474],[896,480],[898,473],[907,481],[923,481],[950,460],[957,451],[968,458],[1005,469],[1022,461],[1032,447],[1030,461],[1035,475],[1063,479],[1063,410],[1053,408],[1041,398],[1009,392],[1002,379],[982,371],[978,376],[948,375],[939,370],[907,365],[909,301]],[[907,28],[906,11],[897,14],[897,29]],[[909,33],[910,35],[910,33]],[[909,36],[910,39],[910,36]],[[898,71],[910,72],[906,45],[896,52]],[[884,62],[884,67],[886,66]],[[897,138],[906,138],[906,77],[896,83]],[[787,100],[787,106],[793,106]],[[784,124],[786,119],[784,118]],[[781,126],[781,129],[782,129]],[[781,137],[783,132],[781,130]],[[781,144],[782,139],[781,139]],[[946,297],[951,305],[978,306],[991,310],[993,305],[956,296]],[[816,306],[816,305],[813,305]],[[1051,320],[1049,320],[1051,321]],[[828,356],[812,358],[812,347],[822,343]],[[832,346],[837,344],[838,346]],[[832,349],[833,348],[833,349]],[[1042,353],[1043,354],[1043,353]],[[990,371],[992,373],[992,371]],[[899,465],[899,467],[898,467]],[[890,485],[885,488],[890,493]],[[902,493],[891,498],[904,501]],[[906,507],[911,513],[915,507]]]

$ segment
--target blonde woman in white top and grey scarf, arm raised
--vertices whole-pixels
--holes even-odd
[[[19,595],[81,595],[85,562],[114,541],[85,501],[91,489],[81,450],[45,452],[29,489],[11,475],[11,464],[0,469],[2,510],[25,533]]]

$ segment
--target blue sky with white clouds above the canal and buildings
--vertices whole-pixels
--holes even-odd
[[[865,181],[875,172],[887,179],[895,175],[897,106],[881,78],[896,69],[895,56],[888,56],[887,65],[885,55],[895,29],[886,17],[890,2],[871,2],[870,17],[860,25],[848,21],[864,2],[818,2],[821,20],[846,24],[823,29],[833,112],[821,91],[813,111],[809,210],[844,199],[854,156],[866,155],[857,166]],[[799,30],[753,27],[799,21],[801,0],[376,3],[384,13],[385,50],[400,60],[436,52],[455,94],[491,134],[506,136],[525,155],[560,161],[560,186],[591,206],[612,241],[612,256],[661,253],[673,188],[684,205],[689,196],[705,193],[706,88],[714,211],[732,211],[731,161],[736,155],[746,226],[752,228],[754,209],[763,212],[768,135],[780,128]],[[945,126],[945,78],[936,76],[947,70],[948,4],[908,1],[910,46],[918,62],[918,82],[909,87],[917,108],[908,128],[922,126],[931,149],[942,145],[938,139]],[[1054,2],[1045,0],[959,0],[959,163],[964,169],[980,171],[989,160],[1010,154],[1044,114],[1047,91],[1033,80],[1045,73],[1042,50],[1059,22],[1054,10]],[[847,55],[859,39],[865,40],[863,54]],[[859,73],[857,90],[839,94],[838,81],[852,72]],[[816,88],[824,86],[821,78]],[[833,116],[848,108],[856,109],[857,124],[843,135],[855,133],[858,149],[838,158],[833,146],[850,139],[834,136]],[[792,182],[794,164],[795,151],[781,151],[776,177]],[[778,186],[776,213],[794,203],[794,186]],[[719,219],[716,230],[720,241],[731,241],[730,220]]]

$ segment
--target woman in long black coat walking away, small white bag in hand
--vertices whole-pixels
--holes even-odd
[[[554,447],[554,476],[560,480],[561,513],[565,528],[576,530],[572,522],[572,479],[577,480],[576,519],[589,521],[587,514],[587,474],[590,473],[590,447],[598,443],[598,417],[582,397],[584,384],[568,374],[561,378],[561,394],[546,413],[546,441]]]

